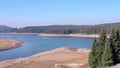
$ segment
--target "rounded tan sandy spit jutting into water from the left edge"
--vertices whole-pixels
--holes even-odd
[[[9,50],[20,47],[21,41],[11,39],[0,39],[0,51]]]

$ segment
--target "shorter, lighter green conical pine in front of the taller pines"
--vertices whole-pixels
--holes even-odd
[[[112,53],[111,42],[108,41],[105,44],[104,52],[102,55],[102,66],[109,67],[112,65],[113,65],[113,53]]]

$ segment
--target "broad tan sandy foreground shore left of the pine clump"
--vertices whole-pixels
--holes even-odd
[[[89,49],[57,48],[35,54],[0,62],[0,68],[89,68]]]

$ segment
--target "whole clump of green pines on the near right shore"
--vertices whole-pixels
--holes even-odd
[[[112,29],[110,38],[102,30],[98,40],[94,40],[89,54],[91,68],[105,68],[120,63],[120,30]]]

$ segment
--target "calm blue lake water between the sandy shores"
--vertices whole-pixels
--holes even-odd
[[[17,39],[24,42],[22,47],[1,51],[0,60],[31,56],[39,52],[63,46],[91,48],[93,42],[93,38],[42,37],[37,34],[0,34],[0,38]]]

